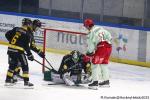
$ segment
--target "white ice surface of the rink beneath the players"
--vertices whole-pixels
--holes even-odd
[[[29,61],[30,81],[34,83],[34,89],[6,88],[4,87],[8,69],[6,52],[7,46],[0,45],[0,100],[141,100],[136,98],[111,98],[117,96],[149,96],[150,99],[150,68],[113,62],[109,64],[111,73],[110,88],[89,90],[87,88],[71,88],[62,85],[47,86],[47,82],[43,80],[41,65],[34,61]],[[62,56],[52,53],[46,55],[51,64],[57,68]],[[34,57],[42,61],[38,55],[34,54]],[[23,83],[20,85],[23,85]],[[148,97],[146,98],[148,99]]]

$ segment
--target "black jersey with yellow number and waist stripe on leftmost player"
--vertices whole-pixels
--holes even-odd
[[[30,31],[27,27],[15,27],[5,34],[9,41],[8,52],[24,52],[31,54],[29,43],[31,40]]]

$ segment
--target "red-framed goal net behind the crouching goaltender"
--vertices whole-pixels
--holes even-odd
[[[57,63],[56,65],[56,60],[60,60],[59,62],[61,62],[62,59],[60,56],[57,56],[58,53],[64,55],[72,50],[84,53],[86,49],[86,34],[81,32],[44,28],[35,34],[35,41],[43,49],[51,65],[54,67],[57,66],[57,68],[59,64]],[[43,59],[42,62],[43,65],[50,67],[49,64],[46,64],[46,59]],[[42,71],[44,72],[45,70],[43,67]]]

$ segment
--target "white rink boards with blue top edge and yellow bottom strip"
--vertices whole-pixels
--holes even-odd
[[[51,29],[59,29],[59,30],[67,30],[71,32],[83,32],[86,33],[81,22],[77,21],[68,21],[65,19],[59,18],[45,18],[41,16],[33,16],[33,15],[25,15],[25,14],[18,14],[18,13],[3,13],[0,12],[0,43],[7,44],[7,40],[5,39],[5,32],[9,29],[12,29],[15,26],[21,25],[21,20],[24,17],[30,18],[39,18],[42,22],[45,23],[45,28]],[[98,24],[99,26],[103,26]],[[141,29],[132,29],[130,27],[121,27],[121,26],[103,26],[104,28],[108,29],[113,36],[113,51],[112,51],[112,61],[127,63],[127,64],[134,64],[140,66],[150,67],[150,31],[149,30],[141,30]],[[53,39],[53,43],[56,45],[52,45],[51,39],[47,41],[47,45],[49,45],[46,50],[50,52],[56,53],[67,53],[72,49],[83,50],[85,51],[86,48],[83,48],[85,44],[81,44],[78,42],[60,42],[58,41],[58,34],[57,31],[49,31],[51,34],[56,35],[55,39]],[[43,32],[36,33],[35,35],[42,35]],[[63,33],[66,34],[66,33]],[[73,34],[72,34],[73,35]],[[54,37],[54,36],[53,36]],[[72,40],[74,37],[71,36]],[[64,39],[64,41],[68,41]],[[63,46],[62,46],[63,45]],[[40,46],[40,45],[39,45]],[[58,48],[59,47],[59,48]],[[74,48],[72,48],[74,47]]]

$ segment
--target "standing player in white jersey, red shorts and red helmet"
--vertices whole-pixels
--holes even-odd
[[[89,84],[89,88],[98,89],[98,85],[109,85],[107,65],[112,51],[112,37],[111,33],[104,28],[95,26],[92,19],[86,19],[84,27],[89,31],[86,55],[90,57],[92,62],[93,82]]]

